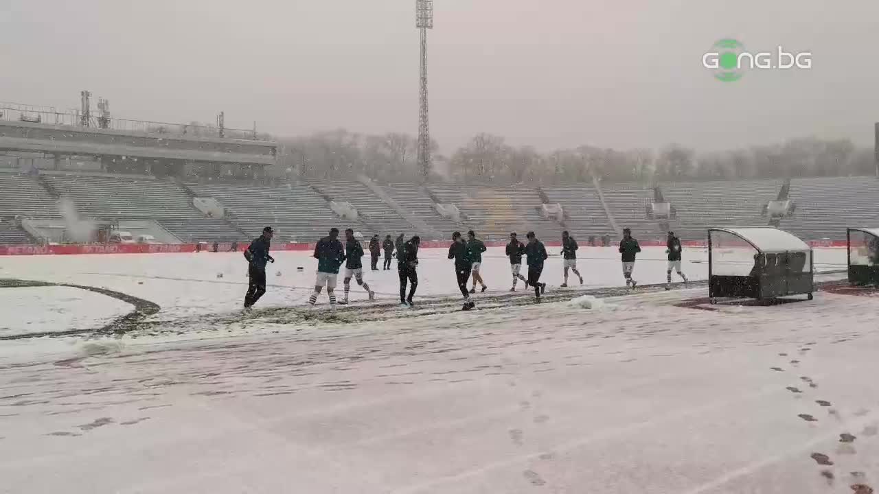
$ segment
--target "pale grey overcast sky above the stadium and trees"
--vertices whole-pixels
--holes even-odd
[[[296,135],[418,132],[415,0],[0,0],[0,101]],[[876,0],[436,0],[432,136],[548,150],[724,149],[816,134],[870,145]],[[812,69],[717,81],[721,38]]]

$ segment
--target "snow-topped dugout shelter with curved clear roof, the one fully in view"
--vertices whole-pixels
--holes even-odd
[[[752,254],[753,265],[724,261],[720,250],[730,247],[739,258]],[[750,248],[750,249],[749,249]],[[722,266],[723,264],[723,266]],[[726,264],[732,264],[726,266]],[[814,256],[809,244],[782,229],[760,226],[708,229],[708,298],[772,299],[815,292]]]

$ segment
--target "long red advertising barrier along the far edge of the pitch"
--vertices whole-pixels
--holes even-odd
[[[685,247],[708,247],[707,241],[685,241]],[[846,248],[845,240],[816,240],[808,241],[813,248]],[[238,243],[243,247],[247,243]],[[47,255],[78,255],[78,254],[160,254],[175,252],[195,252],[198,250],[197,243],[117,243],[110,245],[0,245],[0,256],[47,256]],[[488,247],[503,247],[505,242],[486,242]],[[547,247],[561,247],[561,242],[544,242]],[[645,241],[643,247],[664,247],[664,242]],[[217,251],[226,252],[231,248],[231,243],[218,243]],[[585,246],[585,245],[584,245]],[[448,242],[422,242],[423,249],[448,248]],[[310,251],[315,248],[315,243],[273,243],[272,251]],[[213,250],[212,243],[201,243],[201,251]]]

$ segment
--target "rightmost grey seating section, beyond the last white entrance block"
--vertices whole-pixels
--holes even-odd
[[[781,229],[807,240],[845,238],[846,227],[879,225],[875,177],[795,178],[790,200],[796,210],[781,220]]]

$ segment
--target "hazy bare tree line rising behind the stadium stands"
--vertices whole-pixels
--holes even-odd
[[[417,182],[418,139],[410,134],[355,134],[345,129],[280,140],[279,164],[287,178],[354,178]],[[848,139],[805,137],[724,151],[696,152],[679,144],[663,149],[579,146],[541,152],[513,146],[501,136],[476,134],[451,155],[432,142],[432,180],[456,183],[554,184],[591,181],[651,183],[747,178],[800,178],[875,174],[872,149]]]

